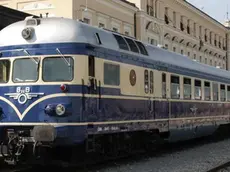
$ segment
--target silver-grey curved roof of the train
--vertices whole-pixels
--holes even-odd
[[[33,22],[34,21],[34,22]],[[34,28],[36,33],[32,39],[22,37],[22,30],[26,27]],[[95,36],[95,34],[98,34]],[[175,66],[185,70],[191,70],[203,75],[212,75],[223,78],[230,83],[230,72],[202,64],[189,59],[186,56],[169,52],[162,48],[141,43],[147,54],[135,53],[120,48],[114,35],[137,41],[134,38],[120,35],[105,29],[90,26],[88,24],[66,18],[27,18],[24,21],[13,23],[0,31],[0,49],[7,46],[19,46],[29,44],[50,43],[88,43],[106,49],[125,52],[153,62],[160,62],[166,66]],[[99,39],[99,40],[98,40]],[[138,41],[140,43],[140,41]]]

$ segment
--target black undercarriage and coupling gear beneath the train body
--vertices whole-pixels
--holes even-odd
[[[1,141],[0,153],[8,165],[82,164],[85,161],[127,156],[132,153],[156,149],[167,133],[157,130],[89,135],[78,145],[57,146],[54,142],[38,142],[28,129],[7,129]]]

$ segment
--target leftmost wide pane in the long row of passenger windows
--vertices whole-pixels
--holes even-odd
[[[171,76],[171,98],[180,98],[180,78],[179,76]]]

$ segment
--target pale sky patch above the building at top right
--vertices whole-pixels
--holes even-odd
[[[187,0],[200,10],[204,11],[214,19],[224,23],[228,18],[230,19],[230,0]]]

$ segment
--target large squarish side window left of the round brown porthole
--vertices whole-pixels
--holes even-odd
[[[120,85],[120,66],[117,64],[104,63],[104,84]]]

